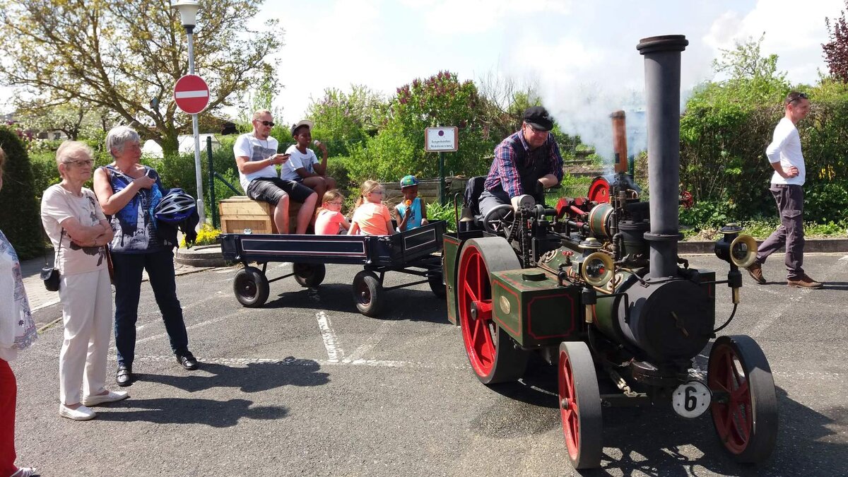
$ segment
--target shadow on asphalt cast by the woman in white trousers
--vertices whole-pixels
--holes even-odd
[[[253,401],[231,399],[129,399],[114,402],[109,408],[120,412],[99,412],[100,421],[136,422],[155,424],[206,424],[211,427],[232,427],[241,418],[280,419],[288,414],[286,407],[250,407]]]

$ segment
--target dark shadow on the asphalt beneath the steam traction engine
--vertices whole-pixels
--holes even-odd
[[[561,429],[559,412],[555,411],[555,367],[541,363],[528,368],[528,373],[519,382],[490,386],[495,391],[493,403],[473,419],[472,428],[504,437]],[[778,441],[766,463],[756,466],[735,463],[717,440],[710,412],[689,420],[661,405],[605,407],[602,467],[581,474],[696,475],[698,469],[695,467],[700,467],[728,475],[828,475],[834,474],[834,469],[844,469],[848,443],[835,429],[844,428],[843,417],[848,416],[848,407],[829,409],[828,415],[824,415],[789,398],[782,388],[776,390]],[[511,418],[505,420],[507,416]],[[523,423],[524,418],[541,422]],[[500,429],[502,427],[505,429]],[[563,452],[565,454],[565,443]],[[691,457],[698,454],[701,457]]]

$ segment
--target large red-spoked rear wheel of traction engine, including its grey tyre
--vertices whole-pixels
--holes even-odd
[[[527,351],[516,349],[510,335],[492,319],[489,272],[516,268],[521,265],[505,239],[471,239],[462,247],[456,279],[460,328],[468,361],[483,384],[515,381],[527,369]]]

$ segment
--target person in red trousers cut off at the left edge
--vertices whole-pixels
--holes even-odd
[[[0,188],[3,188],[3,161],[0,149]],[[36,323],[26,300],[18,254],[0,231],[0,476],[30,477],[31,467],[14,465],[14,405],[18,396],[12,368],[8,362],[36,340]]]

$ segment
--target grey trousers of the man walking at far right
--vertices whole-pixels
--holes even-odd
[[[804,189],[797,185],[772,184],[769,188],[778,204],[780,227],[756,250],[756,261],[765,263],[768,255],[786,247],[786,278],[804,276]]]

